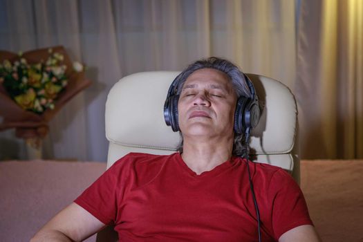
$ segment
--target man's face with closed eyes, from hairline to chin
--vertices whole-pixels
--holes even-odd
[[[212,68],[187,78],[178,102],[183,136],[233,137],[236,94],[229,77]]]

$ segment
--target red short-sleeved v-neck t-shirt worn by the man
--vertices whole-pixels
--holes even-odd
[[[263,242],[313,224],[286,171],[254,162],[250,171]],[[114,225],[120,241],[258,241],[247,162],[238,157],[197,175],[179,153],[130,153],[75,203]]]

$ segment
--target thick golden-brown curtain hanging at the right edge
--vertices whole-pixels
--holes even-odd
[[[304,0],[297,86],[303,158],[363,158],[363,1]]]

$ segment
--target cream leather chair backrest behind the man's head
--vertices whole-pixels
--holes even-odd
[[[163,106],[169,85],[179,72],[150,71],[123,77],[106,102],[107,167],[129,152],[169,154],[180,136],[167,127]],[[299,182],[297,105],[281,82],[248,74],[263,105],[261,120],[251,133],[254,161],[294,170]]]

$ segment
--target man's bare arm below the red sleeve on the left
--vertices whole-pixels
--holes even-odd
[[[71,203],[46,223],[33,239],[34,241],[43,241],[48,236],[59,234],[66,236],[71,241],[82,241],[104,226],[104,223],[84,210],[83,207]]]

